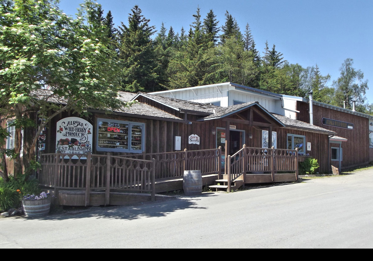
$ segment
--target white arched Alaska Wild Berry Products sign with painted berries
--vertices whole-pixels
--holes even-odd
[[[59,120],[57,122],[56,151],[69,154],[92,152],[92,128],[91,123],[78,117]]]

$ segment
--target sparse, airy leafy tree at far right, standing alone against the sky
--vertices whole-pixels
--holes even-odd
[[[366,102],[366,91],[368,89],[368,81],[363,81],[364,74],[361,70],[352,67],[354,61],[347,58],[339,71],[341,75],[336,81],[333,81],[335,95],[333,97],[333,105],[342,107],[343,101],[346,101],[346,108],[352,108],[352,101],[356,101],[356,106],[361,106]]]

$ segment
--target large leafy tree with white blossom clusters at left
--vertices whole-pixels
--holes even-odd
[[[97,11],[98,6],[92,5]],[[34,158],[41,130],[65,110],[117,108],[115,55],[95,35],[87,16],[72,19],[51,0],[14,0],[0,5],[1,117],[15,117],[15,173],[22,173],[21,128],[34,129],[32,113],[43,119],[32,131],[23,158]],[[101,27],[97,31],[101,31]],[[43,89],[48,88],[45,95]],[[64,105],[51,101],[63,97]],[[30,132],[31,132],[30,131]]]

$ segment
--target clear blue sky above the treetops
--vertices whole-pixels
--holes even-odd
[[[82,0],[83,1],[83,0]],[[60,0],[60,8],[75,15],[79,3]],[[201,20],[210,9],[219,25],[225,22],[228,11],[236,19],[241,32],[248,23],[257,50],[262,54],[265,43],[283,54],[289,63],[303,67],[319,66],[322,75],[329,74],[331,86],[339,75],[345,59],[354,60],[353,67],[368,80],[366,97],[373,103],[373,1],[371,0],[98,0],[104,16],[110,10],[115,27],[128,24],[128,13],[137,4],[150,25],[159,31],[162,22],[175,32],[185,31],[194,21],[192,15],[200,7]]]

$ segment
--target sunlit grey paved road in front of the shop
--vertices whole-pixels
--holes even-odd
[[[373,248],[373,169],[40,219],[0,218],[0,248]]]

